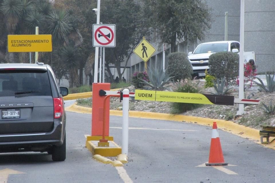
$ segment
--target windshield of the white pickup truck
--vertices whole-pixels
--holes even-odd
[[[197,47],[193,54],[217,53],[220,51],[228,51],[228,43],[202,44]]]

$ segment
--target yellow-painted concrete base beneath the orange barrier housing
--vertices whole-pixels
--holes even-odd
[[[121,147],[113,141],[113,137],[105,137],[105,139],[108,139],[109,147],[98,147],[97,144],[100,139],[102,139],[102,136],[86,136],[86,147],[93,155],[113,157],[121,154]]]

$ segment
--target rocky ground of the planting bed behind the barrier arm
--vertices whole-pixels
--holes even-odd
[[[204,82],[201,82],[203,85]],[[270,125],[271,122],[275,121],[274,114],[267,114],[262,108],[263,104],[269,106],[270,101],[275,97],[275,93],[266,93],[264,91],[260,92],[258,86],[253,85],[251,88],[245,89],[245,96],[252,96],[251,99],[257,99],[261,101],[260,105],[246,105],[245,104],[245,114],[241,116],[236,116],[239,105],[234,104],[234,106],[224,106],[224,105],[204,105],[202,104],[199,108],[189,110],[187,112],[181,113],[181,115],[196,116],[202,118],[211,119],[222,119],[235,122],[240,125],[248,126],[255,129],[260,129],[260,125]],[[130,91],[134,91],[134,87],[128,87]],[[230,95],[235,98],[238,97],[239,88],[233,87]],[[203,94],[215,93],[213,87],[203,89]],[[273,107],[275,100],[272,103]],[[91,99],[81,100],[78,105],[91,107]],[[119,98],[110,99],[110,109],[111,110],[122,110],[122,102],[119,102]],[[130,100],[129,110],[131,111],[145,111],[145,112],[156,112],[156,113],[170,113],[171,102],[156,102],[156,101],[144,101],[144,100]],[[273,125],[273,124],[271,124]]]

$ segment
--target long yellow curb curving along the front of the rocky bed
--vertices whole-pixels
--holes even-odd
[[[90,114],[92,113],[91,108],[87,109],[85,107],[76,106],[75,104],[65,108],[65,110],[67,109],[68,111],[72,111],[72,112],[76,112],[76,110],[79,110],[79,112],[82,110],[87,112],[89,109]],[[84,112],[80,112],[80,113],[84,113]],[[110,115],[122,116],[122,111],[110,110]],[[211,128],[212,128],[213,122],[217,122],[218,129],[230,132],[242,138],[254,140],[254,142],[262,146],[275,150],[275,140],[272,141],[272,138],[270,138],[270,142],[272,141],[270,144],[261,144],[259,130],[245,127],[243,125],[239,125],[231,121],[210,119],[210,118],[200,118],[200,117],[194,117],[194,116],[174,115],[174,114],[166,114],[166,113],[140,112],[140,111],[129,111],[129,117],[155,119],[155,120],[168,120],[168,121],[177,121],[177,122],[189,122],[189,123],[209,126]]]

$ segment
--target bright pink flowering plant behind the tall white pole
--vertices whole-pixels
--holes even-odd
[[[249,62],[243,65],[243,76],[244,76],[244,84],[246,85],[245,88],[251,88],[253,84],[253,80],[256,79],[256,68],[254,65],[251,65]],[[236,84],[239,85],[240,81],[237,77]]]

